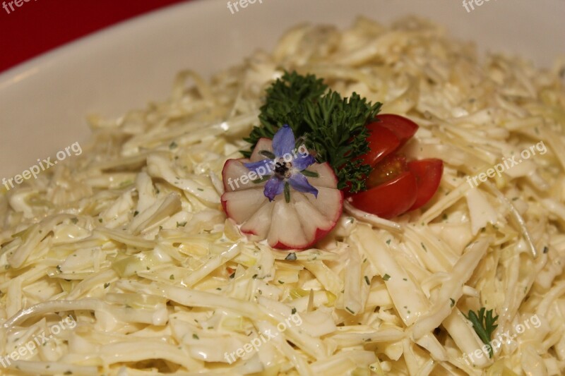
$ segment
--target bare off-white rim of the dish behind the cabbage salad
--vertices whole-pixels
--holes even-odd
[[[227,0],[165,8],[0,75],[0,179],[85,140],[85,114],[119,115],[162,99],[177,71],[209,75],[254,49],[270,50],[297,23],[345,26],[359,15],[387,22],[417,14],[483,50],[518,53],[541,66],[565,53],[563,0],[483,0],[469,12],[457,0],[258,1],[234,14]]]

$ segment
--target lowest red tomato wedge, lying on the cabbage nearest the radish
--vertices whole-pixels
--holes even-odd
[[[388,219],[414,205],[417,189],[415,176],[406,171],[380,186],[352,195],[350,202],[359,210]]]

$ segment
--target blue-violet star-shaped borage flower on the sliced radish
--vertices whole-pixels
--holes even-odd
[[[311,193],[318,198],[318,190],[310,185],[304,172],[316,159],[310,154],[297,156],[295,150],[295,133],[288,125],[280,127],[273,137],[274,159],[263,159],[258,162],[245,163],[244,165],[249,171],[269,171],[271,174],[263,193],[269,201],[275,200],[277,195],[285,193],[285,199],[290,201],[290,187],[302,193]],[[268,164],[274,166],[274,171]],[[313,174],[313,175],[311,175]],[[261,176],[261,174],[258,174]],[[309,175],[315,176],[314,173]]]

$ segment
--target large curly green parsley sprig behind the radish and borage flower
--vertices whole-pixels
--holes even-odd
[[[259,138],[273,138],[278,128],[288,124],[317,162],[333,167],[339,189],[349,186],[352,193],[366,189],[371,166],[356,158],[369,151],[365,125],[379,114],[381,103],[371,104],[355,92],[343,98],[315,75],[296,72],[285,72],[266,94],[261,125],[245,139],[251,148]],[[249,157],[251,152],[243,154]]]

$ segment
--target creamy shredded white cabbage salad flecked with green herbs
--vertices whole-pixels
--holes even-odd
[[[210,81],[179,73],[169,99],[119,119],[90,116],[81,157],[0,197],[2,359],[77,322],[0,373],[564,374],[563,66],[481,61],[424,20],[359,18],[290,30]],[[283,69],[417,121],[403,152],[445,163],[432,202],[394,222],[346,205],[300,253],[243,236],[222,212],[222,166]],[[468,184],[537,142],[547,153]],[[540,325],[468,362],[483,344],[465,316],[481,307],[499,315],[493,338]]]

